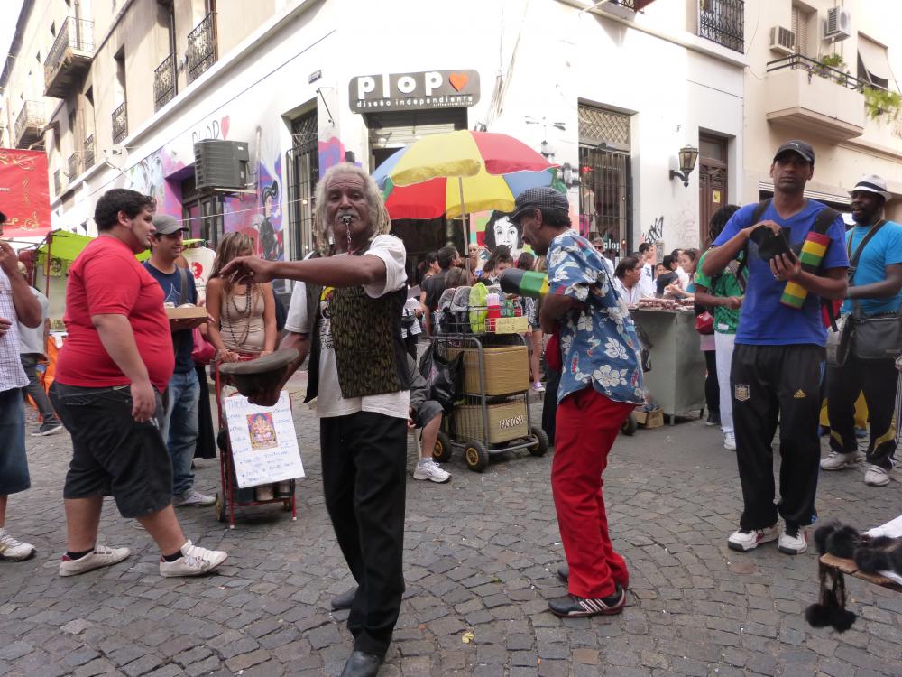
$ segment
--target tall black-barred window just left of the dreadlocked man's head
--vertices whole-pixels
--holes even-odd
[[[288,214],[291,258],[302,259],[316,246],[313,225],[314,192],[319,181],[319,133],[317,112],[291,121],[293,144],[285,153],[288,168]]]

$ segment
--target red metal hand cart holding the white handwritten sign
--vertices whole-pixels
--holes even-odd
[[[254,359],[254,357],[243,356],[240,359],[247,361]],[[216,493],[216,519],[220,522],[225,522],[227,516],[229,529],[235,529],[236,507],[281,503],[283,510],[291,511],[291,521],[294,522],[298,519],[298,510],[295,500],[295,481],[293,479],[287,480],[288,489],[281,495],[278,493],[278,489],[274,488],[272,498],[262,500],[257,500],[255,487],[238,487],[238,481],[235,476],[235,464],[232,458],[232,444],[229,440],[228,422],[226,421],[225,396],[223,394],[223,388],[231,384],[228,383],[227,377],[220,373],[219,367],[221,364],[220,362],[215,363],[216,409],[219,414],[219,433],[216,435],[216,444],[219,447],[219,480],[221,488]]]

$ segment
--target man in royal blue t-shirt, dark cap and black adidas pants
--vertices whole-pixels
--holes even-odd
[[[702,266],[706,275],[720,274],[746,249],[749,279],[730,378],[744,510],[740,528],[730,535],[727,544],[740,552],[778,538],[780,552],[805,552],[805,528],[815,519],[821,456],[817,426],[826,342],[820,298],[841,299],[845,295],[849,260],[843,246],[845,229],[838,214],[825,225],[829,240],[817,272],[805,271],[798,258],[805,237],[815,229],[818,214],[825,209],[804,195],[805,183],[814,171],[815,153],[809,144],[789,141],[781,145],[770,165],[774,198],[763,205],[763,211],[759,205],[746,205],[737,211],[714,240]],[[760,226],[782,232],[796,254],[763,260],[758,245],[750,239]],[[788,283],[804,290],[805,300],[799,308],[781,302],[789,291]],[[770,445],[778,422],[780,497],[774,505]],[[779,533],[778,514],[784,520]]]

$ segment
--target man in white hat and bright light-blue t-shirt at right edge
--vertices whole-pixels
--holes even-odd
[[[883,217],[883,207],[892,198],[887,182],[866,174],[849,191],[854,225],[846,235],[851,259],[849,291],[842,313],[856,318],[880,315],[896,318],[902,304],[902,226]],[[827,413],[830,417],[830,455],[821,460],[824,470],[851,468],[858,463],[855,439],[855,400],[864,392],[868,404],[870,441],[864,482],[872,487],[889,484],[896,453],[893,406],[896,402],[896,355],[883,359],[861,359],[855,338],[840,366],[827,369]]]

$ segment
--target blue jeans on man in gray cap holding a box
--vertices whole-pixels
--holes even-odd
[[[198,374],[192,369],[176,372],[166,391],[167,447],[172,459],[172,494],[179,496],[194,487],[191,461],[198,444],[198,403],[200,384]]]

